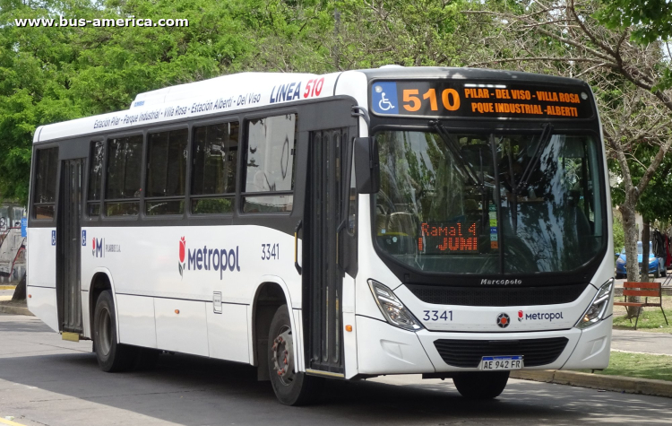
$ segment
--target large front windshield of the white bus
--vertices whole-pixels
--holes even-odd
[[[546,133],[547,135],[542,135]],[[375,135],[384,254],[433,273],[573,271],[603,247],[599,144],[590,135]]]

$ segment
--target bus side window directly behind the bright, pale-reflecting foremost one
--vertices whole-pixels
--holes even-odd
[[[192,213],[233,213],[239,127],[237,121],[194,127]]]

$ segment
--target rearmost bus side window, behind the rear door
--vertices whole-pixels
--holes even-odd
[[[33,196],[32,217],[53,220],[56,206],[56,172],[58,170],[58,148],[38,150],[35,166],[35,195]]]

